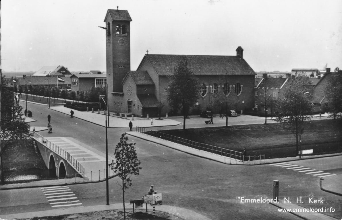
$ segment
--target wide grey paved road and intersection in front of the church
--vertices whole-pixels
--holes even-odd
[[[58,112],[50,112],[45,106],[29,105],[37,119],[31,126],[42,126],[47,123],[46,117],[50,114],[54,127],[52,135],[71,136],[97,150],[105,151],[103,127],[75,118],[70,119]],[[114,153],[114,147],[124,131],[126,129],[108,130],[109,153]],[[47,132],[40,133],[48,135]],[[341,197],[321,191],[317,176],[268,164],[226,165],[140,139],[132,138],[130,141],[136,143],[143,169],[139,176],[132,178],[133,186],[127,190],[126,200],[140,199],[147,193],[149,185],[154,184],[156,190],[163,193],[165,204],[188,208],[211,219],[298,219],[288,213],[279,214],[277,209],[269,204],[240,202],[239,197],[242,196],[249,199],[272,197],[273,180],[277,179],[280,182],[280,197],[290,197],[292,201],[297,197],[303,197],[303,201],[309,196],[323,197],[327,201],[324,206],[333,207],[342,213],[341,208],[338,209]],[[327,171],[331,167],[332,170],[338,171],[342,167],[341,162],[336,163],[331,158],[296,161],[293,164],[322,171]],[[117,180],[114,178],[109,182],[110,203],[122,201]],[[84,206],[105,203],[104,182],[68,187]],[[1,191],[1,201],[2,214],[52,208],[40,188]],[[312,204],[303,205],[311,207]]]

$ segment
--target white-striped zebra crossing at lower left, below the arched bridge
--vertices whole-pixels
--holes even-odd
[[[68,186],[41,187],[40,189],[52,208],[83,206]]]

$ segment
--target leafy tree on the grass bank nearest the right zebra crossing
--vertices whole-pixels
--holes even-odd
[[[298,155],[298,137],[304,132],[304,122],[312,117],[312,84],[308,77],[296,76],[289,80],[284,88],[284,99],[278,100],[280,113],[275,120],[284,122],[285,129],[296,136],[296,155]],[[301,156],[301,155],[299,155]]]

